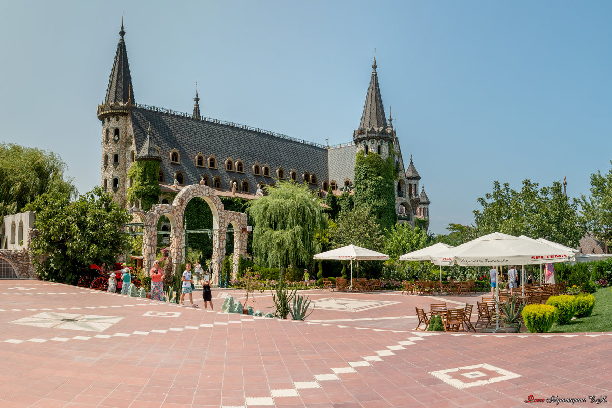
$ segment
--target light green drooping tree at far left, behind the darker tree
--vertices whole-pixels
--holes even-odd
[[[45,192],[75,198],[78,191],[72,178],[64,178],[66,168],[51,151],[0,143],[0,218],[21,213]]]

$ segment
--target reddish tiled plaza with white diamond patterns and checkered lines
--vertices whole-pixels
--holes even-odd
[[[499,408],[612,388],[612,333],[415,331],[415,306],[441,298],[302,293],[315,306],[307,322],[220,312],[227,295],[244,303],[231,289],[212,290],[210,311],[200,291],[188,308],[0,281],[0,407]],[[270,311],[270,292],[255,302]]]

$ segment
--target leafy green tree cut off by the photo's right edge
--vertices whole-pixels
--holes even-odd
[[[612,161],[610,161],[612,164]],[[581,195],[581,223],[595,237],[605,242],[605,252],[612,240],[612,169],[602,175],[600,170],[591,174],[591,195]]]

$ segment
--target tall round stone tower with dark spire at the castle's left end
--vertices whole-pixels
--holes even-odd
[[[125,206],[130,182],[127,170],[135,159],[130,107],[135,104],[132,76],[127,61],[123,18],[119,43],[113,61],[106,99],[98,105],[98,118],[102,121],[102,177],[100,184],[113,193],[113,199]]]

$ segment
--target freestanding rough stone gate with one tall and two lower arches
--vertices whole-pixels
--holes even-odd
[[[247,214],[236,211],[226,211],[223,203],[211,187],[192,184],[185,186],[179,194],[174,197],[172,204],[156,204],[151,211],[145,213],[143,210],[133,208],[130,214],[140,217],[143,221],[143,268],[150,270],[155,262],[157,252],[157,222],[161,216],[170,220],[172,227],[170,233],[170,253],[174,261],[174,267],[179,265],[183,258],[183,215],[187,203],[194,197],[203,198],[212,212],[212,265],[215,283],[218,283],[219,272],[225,257],[225,233],[228,225],[234,228],[234,265],[233,275],[236,277],[238,260],[247,255]]]

